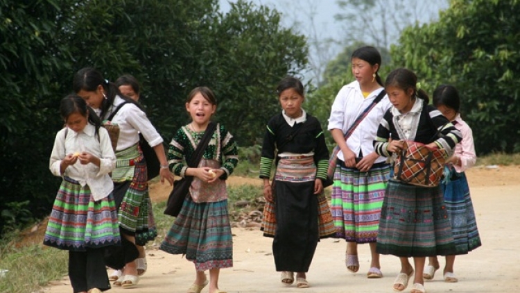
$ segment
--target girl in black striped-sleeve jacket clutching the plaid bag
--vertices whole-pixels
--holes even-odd
[[[428,105],[428,96],[417,90],[417,76],[408,69],[395,69],[385,81],[392,108],[381,120],[374,149],[381,156],[391,156],[402,149],[403,141],[442,148],[449,153],[460,142],[460,131],[441,112]],[[440,134],[437,135],[437,131]],[[389,139],[391,141],[389,142]],[[414,274],[409,257],[413,257],[415,278],[412,293],[424,293],[424,262],[427,256],[454,254],[442,190],[410,185],[391,178],[386,188],[377,235],[376,251],[399,256],[401,272],[394,290],[402,291]]]

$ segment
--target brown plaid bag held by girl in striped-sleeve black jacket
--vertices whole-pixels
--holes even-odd
[[[445,149],[429,149],[425,144],[405,140],[394,166],[394,178],[424,187],[439,185],[448,157]]]

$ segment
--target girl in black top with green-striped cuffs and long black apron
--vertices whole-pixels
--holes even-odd
[[[263,195],[272,202],[276,219],[272,254],[281,282],[294,281],[299,288],[309,287],[309,271],[318,244],[318,194],[327,179],[329,151],[320,122],[302,109],[304,87],[294,77],[282,79],[277,87],[283,109],[267,125],[260,160]],[[272,162],[276,175],[269,183]],[[276,183],[276,184],[275,184]],[[275,194],[273,194],[273,192]],[[328,206],[325,207],[329,212]],[[330,224],[332,224],[329,215]],[[334,234],[331,225],[329,234]]]

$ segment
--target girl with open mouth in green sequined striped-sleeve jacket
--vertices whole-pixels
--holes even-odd
[[[233,266],[233,242],[225,180],[239,162],[233,136],[218,124],[198,167],[183,163],[191,159],[216,111],[217,101],[208,87],[196,87],[186,101],[191,123],[173,136],[168,150],[171,171],[177,176],[194,176],[190,196],[162,242],[160,249],[171,254],[185,254],[195,264],[196,279],[188,292],[200,293],[207,284],[209,293],[218,289],[220,269]]]

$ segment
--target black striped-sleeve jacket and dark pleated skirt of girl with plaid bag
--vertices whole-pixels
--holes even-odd
[[[391,155],[386,149],[389,138],[423,144],[435,142],[451,153],[461,135],[439,110],[416,97],[410,112],[401,114],[392,107],[385,113],[374,140],[374,149],[381,156]],[[376,251],[399,257],[455,253],[440,186],[422,187],[390,179],[381,208]]]

